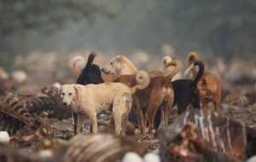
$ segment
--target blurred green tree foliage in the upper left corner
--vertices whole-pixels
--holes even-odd
[[[96,14],[113,16],[104,6],[90,0],[1,0],[0,35],[5,37],[32,28],[52,32],[67,20],[93,20]]]

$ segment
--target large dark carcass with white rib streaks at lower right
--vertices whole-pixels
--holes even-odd
[[[189,122],[193,124],[188,126]],[[180,132],[180,130],[183,131],[179,133],[180,136],[177,136],[177,132]],[[187,133],[189,135],[185,136]],[[184,143],[182,144],[180,140]],[[181,154],[184,157],[188,157],[190,150],[186,147],[189,147],[189,141],[199,142],[193,145],[200,145],[203,148],[202,150],[208,148],[212,152],[227,153],[239,159],[246,159],[247,157],[245,124],[209,111],[203,112],[202,110],[193,109],[180,115],[174,123],[160,134],[161,156],[165,156],[166,148],[170,148],[173,143],[177,142],[182,144],[181,146],[178,145],[183,148]],[[175,154],[176,148],[171,148]],[[195,151],[192,150],[192,154]]]

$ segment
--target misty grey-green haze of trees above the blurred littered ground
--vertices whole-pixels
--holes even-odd
[[[177,58],[197,51],[208,63],[235,56],[253,61],[255,43],[253,0],[0,1],[0,67],[7,69],[15,55],[34,51],[132,55],[140,50],[162,58],[165,44]]]

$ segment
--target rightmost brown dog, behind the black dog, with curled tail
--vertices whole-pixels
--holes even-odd
[[[195,52],[191,52],[188,56],[188,63],[192,65],[193,62],[199,61],[199,55]],[[195,67],[191,69],[193,78],[196,76]],[[202,107],[208,108],[210,101],[214,104],[214,111],[218,113],[221,101],[221,83],[219,79],[211,72],[204,72],[201,80],[197,84],[197,89],[201,95]]]

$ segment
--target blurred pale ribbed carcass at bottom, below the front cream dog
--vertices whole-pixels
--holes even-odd
[[[65,161],[118,161],[126,152],[140,156],[147,147],[137,143],[132,137],[119,137],[112,134],[77,135],[69,142]]]

